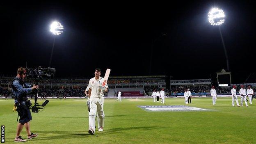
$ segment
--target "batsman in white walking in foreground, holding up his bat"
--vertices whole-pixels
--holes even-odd
[[[101,90],[107,92],[107,84],[102,87],[103,78],[100,77],[101,69],[96,68],[94,72],[95,77],[89,80],[89,130],[88,133],[94,135],[95,132],[95,117],[98,112],[98,131],[103,131],[104,127],[104,94],[100,96]]]

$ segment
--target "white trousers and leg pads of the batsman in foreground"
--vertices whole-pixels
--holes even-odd
[[[98,128],[104,127],[104,97],[100,98],[91,97],[90,98],[90,112],[89,112],[89,129],[94,130],[95,132],[95,117],[96,112],[98,112]]]

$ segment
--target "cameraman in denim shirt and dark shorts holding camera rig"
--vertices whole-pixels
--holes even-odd
[[[27,100],[27,94],[32,92],[32,90],[38,89],[38,85],[27,85],[24,82],[26,74],[27,73],[25,68],[18,68],[17,76],[12,80],[11,84],[13,97],[15,99],[14,105],[17,106],[17,112],[20,116],[14,142],[25,142],[27,139],[37,137],[37,134],[33,134],[30,132],[30,120],[32,120],[32,116],[29,107],[32,104],[29,100]],[[27,139],[23,139],[20,136],[21,130],[23,129],[24,125],[27,131]]]

